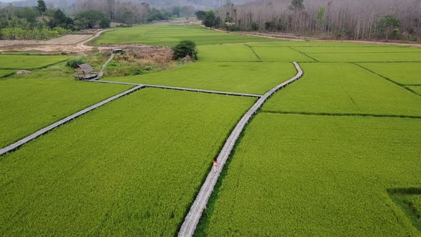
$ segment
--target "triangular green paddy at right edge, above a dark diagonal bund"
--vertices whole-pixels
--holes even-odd
[[[403,85],[421,85],[421,63],[367,63],[366,69]]]

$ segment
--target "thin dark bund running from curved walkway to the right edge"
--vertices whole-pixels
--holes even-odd
[[[421,116],[401,115],[401,114],[352,114],[352,113],[313,113],[313,112],[294,112],[294,111],[260,111],[266,114],[295,114],[305,116],[333,116],[333,117],[374,117],[390,119],[421,119]]]

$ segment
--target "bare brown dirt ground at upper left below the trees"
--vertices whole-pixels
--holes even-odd
[[[109,29],[86,31],[86,34],[69,34],[47,41],[1,40],[0,52],[37,52],[51,54],[91,51],[93,46],[87,46],[85,44],[105,31],[109,31]],[[104,47],[104,49],[108,49],[108,47]]]

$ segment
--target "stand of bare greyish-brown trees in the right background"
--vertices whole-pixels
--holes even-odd
[[[228,31],[283,31],[338,39],[417,39],[421,1],[261,0],[217,11]]]

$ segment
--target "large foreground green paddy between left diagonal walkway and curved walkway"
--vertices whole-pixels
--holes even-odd
[[[255,99],[144,89],[0,158],[1,236],[174,236]]]

